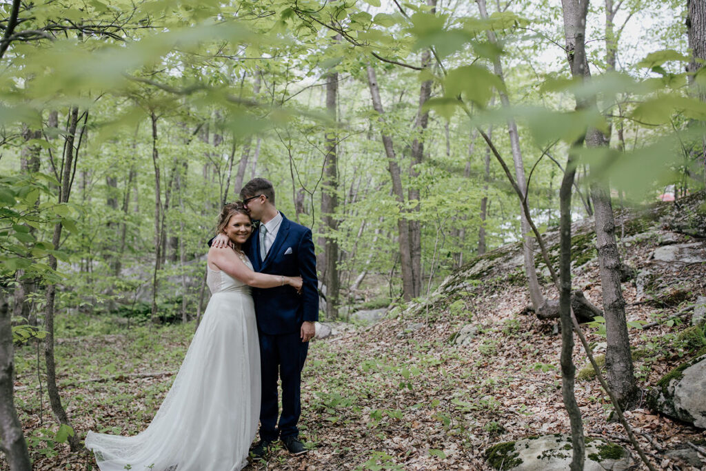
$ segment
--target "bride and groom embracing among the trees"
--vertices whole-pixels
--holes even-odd
[[[265,179],[249,181],[240,196],[221,212],[208,251],[212,296],[152,423],[136,436],[88,432],[86,448],[102,471],[241,470],[258,419],[256,458],[277,439],[289,453],[306,452],[297,422],[301,369],[318,318],[311,230],[277,211]]]

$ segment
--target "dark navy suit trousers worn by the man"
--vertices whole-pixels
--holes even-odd
[[[301,414],[301,370],[309,342],[301,342],[299,332],[268,335],[260,332],[262,402],[260,438],[275,441],[278,437],[299,436],[297,422]],[[282,415],[277,427],[279,404],[277,376],[282,380]]]

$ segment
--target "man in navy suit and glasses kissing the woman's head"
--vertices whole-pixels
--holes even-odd
[[[262,404],[260,441],[251,450],[263,458],[270,443],[282,440],[287,451],[306,453],[299,441],[301,369],[304,368],[314,321],[318,320],[318,281],[311,230],[288,220],[275,207],[270,181],[252,179],[240,191],[245,208],[260,226],[243,246],[255,271],[297,276],[304,280],[301,294],[291,287],[253,288],[260,338]],[[214,241],[214,244],[217,242]],[[277,400],[277,376],[282,380],[282,415]]]

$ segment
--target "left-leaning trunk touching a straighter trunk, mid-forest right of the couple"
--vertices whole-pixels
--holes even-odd
[[[370,64],[368,64],[368,85],[373,100],[373,109],[380,115],[378,121],[382,123],[385,111],[383,110],[383,102],[380,98],[380,88],[378,88],[378,79],[375,74],[375,69]],[[384,128],[383,131],[381,131],[381,135],[385,155],[388,157],[388,170],[393,181],[393,193],[395,193],[397,203],[400,205],[400,216],[397,217],[397,230],[399,234],[397,240],[400,245],[400,262],[402,264],[402,299],[410,301],[412,297],[414,297],[414,271],[412,268],[412,257],[409,253],[409,225],[405,217],[402,217],[402,208],[404,208],[405,205],[405,193],[402,190],[400,166],[397,164],[393,139],[385,134]]]

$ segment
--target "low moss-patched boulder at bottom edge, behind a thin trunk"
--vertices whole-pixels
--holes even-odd
[[[491,446],[486,450],[486,460],[493,469],[501,471],[565,471],[570,467],[572,450],[568,435],[530,436]],[[584,471],[622,471],[631,462],[630,453],[622,446],[603,439],[586,439]]]

